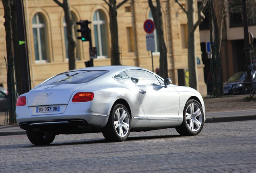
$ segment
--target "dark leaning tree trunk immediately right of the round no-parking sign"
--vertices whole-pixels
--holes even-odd
[[[157,30],[157,38],[159,41],[159,75],[165,78],[168,77],[167,48],[165,45],[165,40],[163,38],[163,20],[160,0],[156,0],[156,5],[157,6],[154,6],[152,0],[149,0],[149,7],[152,12],[155,29]]]

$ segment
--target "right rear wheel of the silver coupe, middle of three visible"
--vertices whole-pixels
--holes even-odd
[[[131,118],[128,110],[122,104],[116,104],[111,109],[107,125],[103,128],[102,134],[107,141],[125,141],[130,134]]]

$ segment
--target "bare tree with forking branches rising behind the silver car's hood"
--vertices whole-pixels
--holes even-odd
[[[199,24],[204,19],[204,14],[202,10],[206,6],[208,0],[202,0],[202,4],[198,8],[198,20],[195,22],[194,13],[195,13],[195,5],[194,0],[188,0],[188,10],[186,10],[182,4],[180,4],[179,0],[175,0],[176,3],[182,8],[182,10],[186,13],[188,18],[188,70],[189,70],[189,87],[194,89],[198,89],[197,83],[197,72],[196,72],[196,46],[195,46],[195,36],[194,32]]]

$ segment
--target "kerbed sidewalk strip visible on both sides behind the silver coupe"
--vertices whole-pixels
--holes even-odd
[[[0,117],[4,113],[0,113]],[[227,112],[213,112],[206,113],[205,123],[219,123],[228,121],[246,121],[256,119],[256,109],[242,110],[242,111],[227,111]],[[26,131],[20,127],[13,127],[11,125],[0,125],[0,136],[6,135],[24,135]]]

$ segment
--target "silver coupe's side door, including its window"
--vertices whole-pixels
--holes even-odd
[[[127,70],[135,83],[143,111],[150,121],[178,121],[179,93],[174,87],[165,87],[155,74],[145,70]]]

